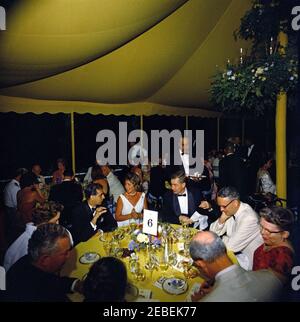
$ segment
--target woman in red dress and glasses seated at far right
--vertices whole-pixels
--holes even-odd
[[[285,208],[274,206],[260,211],[264,243],[254,252],[254,271],[272,269],[283,281],[290,275],[294,249],[288,238],[293,220],[293,213]]]

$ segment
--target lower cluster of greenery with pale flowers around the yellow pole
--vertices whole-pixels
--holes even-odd
[[[213,103],[223,111],[249,111],[260,115],[275,106],[280,91],[296,92],[297,59],[279,53],[261,59],[228,64],[213,77]]]

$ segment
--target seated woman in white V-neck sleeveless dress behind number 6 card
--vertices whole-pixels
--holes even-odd
[[[140,192],[141,181],[135,173],[128,173],[125,176],[125,190],[117,201],[116,221],[118,226],[129,225],[129,220],[134,219],[138,224],[143,218],[142,211],[148,209],[145,193]]]

